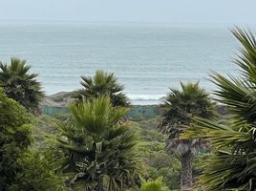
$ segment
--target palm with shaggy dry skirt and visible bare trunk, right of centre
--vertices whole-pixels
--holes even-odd
[[[181,157],[181,190],[189,190],[192,185],[192,160],[194,154],[205,147],[201,138],[181,138],[193,117],[213,117],[209,96],[199,87],[199,83],[181,83],[181,91],[171,89],[164,104],[163,133],[168,135],[166,148]]]

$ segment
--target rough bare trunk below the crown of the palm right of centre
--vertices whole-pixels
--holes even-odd
[[[188,151],[181,155],[181,190],[191,190],[192,187],[192,160],[193,154]]]

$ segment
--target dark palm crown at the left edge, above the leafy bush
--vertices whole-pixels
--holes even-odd
[[[29,74],[30,69],[26,60],[15,57],[11,58],[10,65],[0,62],[0,87],[5,90],[7,96],[34,112],[44,94],[41,84],[35,79],[37,74]]]

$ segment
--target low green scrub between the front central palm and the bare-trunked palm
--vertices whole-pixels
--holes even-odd
[[[166,136],[158,129],[160,117],[144,118],[131,125],[140,135],[139,152],[143,162],[142,179],[162,181],[172,190],[180,188],[181,164],[165,147]]]

